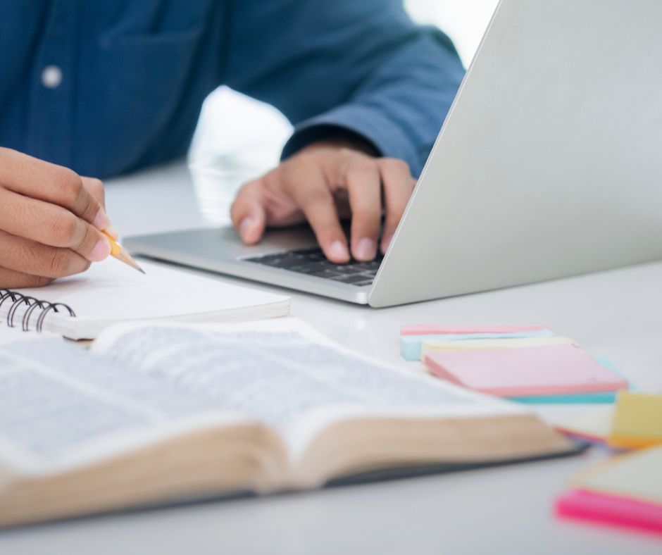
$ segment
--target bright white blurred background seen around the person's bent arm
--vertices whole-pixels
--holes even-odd
[[[498,0],[405,0],[411,17],[440,27],[453,39],[465,67],[480,44]],[[227,87],[206,99],[189,168],[205,223],[228,223],[237,188],[278,163],[292,131],[275,108]]]

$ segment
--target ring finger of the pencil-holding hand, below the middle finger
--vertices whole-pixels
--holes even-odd
[[[70,249],[50,247],[4,231],[0,231],[0,260],[6,270],[50,279],[89,268],[89,261]]]

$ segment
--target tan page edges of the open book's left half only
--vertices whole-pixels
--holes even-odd
[[[171,437],[82,468],[21,475],[0,466],[0,528],[182,498],[282,489],[287,452],[263,425]]]

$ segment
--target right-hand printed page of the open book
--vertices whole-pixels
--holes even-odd
[[[123,325],[92,350],[223,411],[277,430],[293,459],[325,425],[357,416],[522,412],[497,399],[358,356],[294,318],[242,325]]]

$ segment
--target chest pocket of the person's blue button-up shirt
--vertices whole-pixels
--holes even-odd
[[[116,139],[96,153],[101,174],[130,170],[158,156],[165,137],[181,125],[182,106],[191,104],[203,39],[203,27],[196,26],[101,41],[96,82],[90,85],[101,107],[97,132]]]

